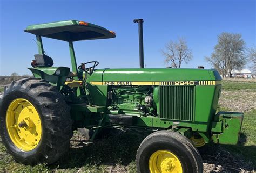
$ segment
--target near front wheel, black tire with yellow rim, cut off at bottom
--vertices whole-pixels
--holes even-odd
[[[172,131],[147,136],[139,146],[136,165],[137,171],[143,173],[203,172],[203,161],[196,147],[185,136]]]

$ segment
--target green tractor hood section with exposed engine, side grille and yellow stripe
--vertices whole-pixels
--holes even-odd
[[[204,69],[105,69],[96,70],[87,83],[93,104],[106,106],[109,114],[158,118],[152,123],[158,127],[166,126],[157,124],[161,121],[191,123],[207,131],[220,79],[217,71]]]

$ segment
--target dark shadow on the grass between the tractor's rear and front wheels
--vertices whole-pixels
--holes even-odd
[[[50,165],[50,168],[73,169],[85,165],[109,165],[116,164],[127,166],[136,158],[137,149],[147,134],[139,132],[118,132],[103,136],[89,145],[81,140],[76,146],[72,146],[62,159]]]

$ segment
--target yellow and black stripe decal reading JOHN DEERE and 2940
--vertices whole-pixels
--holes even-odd
[[[220,85],[221,81],[91,81],[91,85]]]

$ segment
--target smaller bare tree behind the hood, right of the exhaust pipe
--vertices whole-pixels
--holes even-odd
[[[165,56],[165,62],[174,68],[180,68],[182,62],[188,63],[193,58],[192,51],[183,38],[167,43],[161,53]]]

